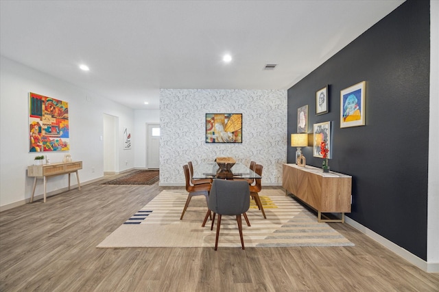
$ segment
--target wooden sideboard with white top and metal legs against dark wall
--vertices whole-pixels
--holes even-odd
[[[318,211],[318,222],[344,222],[344,213],[351,212],[352,176],[284,163],[282,187],[286,194],[293,194]],[[322,213],[342,213],[342,218],[329,219]]]

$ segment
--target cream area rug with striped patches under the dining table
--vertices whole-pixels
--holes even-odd
[[[327,223],[285,196],[280,189],[263,189],[261,193],[267,219],[252,202],[247,212],[250,225],[243,220],[246,247],[346,246],[354,245]],[[184,190],[165,190],[133,214],[98,248],[191,248],[215,245],[216,222],[201,226],[206,214],[204,196],[193,197],[183,220],[180,215],[187,199]],[[234,216],[222,217],[219,247],[241,248]]]

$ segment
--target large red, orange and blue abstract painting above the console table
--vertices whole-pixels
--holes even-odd
[[[67,150],[69,103],[29,92],[29,152]]]

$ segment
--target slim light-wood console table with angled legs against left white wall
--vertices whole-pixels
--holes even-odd
[[[32,189],[32,196],[30,202],[34,201],[36,179],[43,178],[44,180],[44,202],[46,202],[46,185],[48,176],[57,176],[61,174],[69,174],[69,190],[70,190],[70,174],[76,173],[76,179],[78,180],[78,189],[81,189],[80,176],[78,176],[78,170],[82,170],[82,161],[74,162],[60,162],[51,163],[46,165],[30,165],[27,167],[27,176],[34,177],[34,188]]]

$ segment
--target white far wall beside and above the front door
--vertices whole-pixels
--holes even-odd
[[[133,140],[135,142],[134,167],[146,168],[146,123],[159,123],[160,111],[136,110],[134,111],[134,124],[136,124]]]

